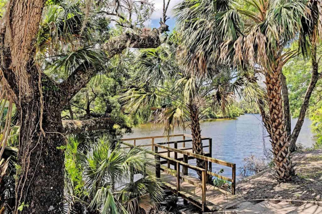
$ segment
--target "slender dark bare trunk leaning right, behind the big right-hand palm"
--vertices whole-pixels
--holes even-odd
[[[300,114],[298,116],[298,121],[296,122],[296,125],[291,135],[290,146],[289,146],[289,149],[291,152],[294,152],[296,150],[296,140],[298,139],[298,135],[301,131],[312,92],[317,84],[317,81],[320,78],[320,74],[318,73],[317,46],[316,46],[315,40],[312,40],[311,63],[312,63],[312,77],[311,77],[310,84],[308,85],[308,88],[305,93],[304,101],[301,106]]]

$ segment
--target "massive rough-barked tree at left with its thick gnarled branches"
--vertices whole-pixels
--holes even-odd
[[[62,133],[110,125],[109,120],[101,119],[65,121],[70,126],[63,127],[62,109],[96,71],[89,64],[81,65],[58,85],[33,61],[44,3],[44,0],[9,0],[0,24],[1,81],[8,86],[20,113],[15,213],[23,214],[62,213],[64,154],[57,148],[66,143]],[[109,58],[127,47],[157,47],[161,44],[160,34],[166,30],[166,24],[162,23],[159,29],[140,35],[127,32],[103,47]],[[59,91],[54,89],[57,87]],[[97,122],[96,126],[93,122]]]

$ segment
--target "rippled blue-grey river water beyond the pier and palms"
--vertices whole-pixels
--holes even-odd
[[[292,129],[295,126],[297,119],[292,119]],[[304,120],[303,127],[298,137],[299,143],[305,147],[311,147],[314,143],[314,136],[311,133],[311,121],[306,118]],[[236,119],[226,120],[206,120],[201,123],[202,136],[212,138],[213,142],[213,158],[221,159],[224,161],[232,162],[236,164],[236,175],[239,178],[239,168],[243,165],[243,160],[246,157],[254,155],[260,159],[264,156],[264,141],[266,149],[270,149],[269,138],[267,136],[265,128],[261,123],[259,114],[245,114]],[[176,130],[175,133],[190,134],[190,129],[186,131]],[[124,136],[124,138],[132,137],[147,137],[163,135],[164,130],[162,127],[154,127],[152,124],[144,124],[140,127],[133,128],[133,133]],[[171,140],[181,140],[182,138],[172,138]],[[188,139],[188,138],[186,138]],[[165,142],[166,139],[156,139],[155,142]],[[150,141],[137,141],[137,144],[146,144]],[[208,143],[204,143],[208,145]],[[186,143],[186,147],[191,144]],[[204,149],[208,151],[208,148]],[[189,160],[189,164],[195,164],[194,160]],[[218,172],[223,169],[224,176],[231,177],[231,168],[221,165],[213,164],[213,172]],[[196,176],[193,170],[189,170],[189,174]]]

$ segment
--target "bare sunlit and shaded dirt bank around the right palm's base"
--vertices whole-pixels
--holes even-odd
[[[297,176],[289,183],[278,184],[272,169],[237,183],[236,192],[245,199],[292,199],[322,201],[322,149],[292,154]]]

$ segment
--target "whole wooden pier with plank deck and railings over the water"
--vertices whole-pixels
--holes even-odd
[[[166,139],[178,137],[182,137],[182,140],[160,143],[155,142],[158,138]],[[151,172],[157,178],[160,178],[167,189],[182,197],[185,203],[190,202],[203,211],[216,211],[224,210],[244,202],[245,200],[241,196],[235,195],[236,164],[212,157],[212,138],[202,137],[203,148],[208,148],[208,152],[204,152],[204,155],[195,154],[191,147],[186,147],[186,143],[192,142],[192,139],[186,138],[191,137],[191,135],[187,134],[176,134],[168,137],[151,136],[124,138],[121,139],[121,141],[122,144],[125,145],[123,148],[151,148],[151,150],[145,149],[145,151],[147,151],[147,155],[154,156],[156,161],[154,166],[147,169],[148,172]],[[149,141],[148,143],[147,140]],[[143,143],[141,141],[145,142]],[[129,142],[132,142],[132,144]],[[204,145],[204,142],[206,145]],[[200,159],[205,161],[206,169],[189,164],[188,162],[191,159]],[[213,173],[212,164],[231,167],[231,178]],[[199,172],[202,175],[202,180],[188,175],[188,169]],[[231,182],[231,192],[207,183],[208,176],[215,176]]]

